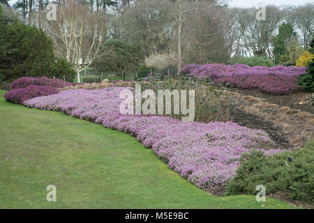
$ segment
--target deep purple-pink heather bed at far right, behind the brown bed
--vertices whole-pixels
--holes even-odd
[[[208,77],[215,83],[228,83],[241,89],[260,89],[274,95],[298,91],[297,76],[306,73],[305,67],[267,66],[250,67],[244,64],[225,65],[190,64],[182,68],[181,74],[191,77]]]

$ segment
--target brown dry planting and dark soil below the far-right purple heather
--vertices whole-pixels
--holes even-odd
[[[285,103],[284,98],[281,98],[277,103],[278,97],[281,96],[264,93],[261,95],[261,92],[257,90],[227,89],[224,92],[232,95],[237,104],[231,112],[230,120],[248,128],[266,131],[278,148],[298,149],[307,141],[314,139],[314,114],[312,111],[306,112],[314,106],[295,105],[295,100],[299,96],[295,94],[291,96],[294,102]],[[257,98],[248,93],[258,93],[260,97]],[[277,99],[271,99],[271,97]],[[298,106],[305,107],[295,109]]]

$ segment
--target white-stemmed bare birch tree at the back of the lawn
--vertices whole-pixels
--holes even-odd
[[[65,57],[73,65],[79,82],[80,71],[94,61],[105,38],[104,23],[101,12],[91,13],[89,6],[68,0],[59,5],[57,21],[43,24],[56,56]]]

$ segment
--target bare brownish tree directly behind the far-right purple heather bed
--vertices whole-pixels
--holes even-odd
[[[183,27],[184,56],[188,63],[225,63],[230,59],[232,45],[238,38],[234,10],[208,2],[197,2],[186,13]]]

